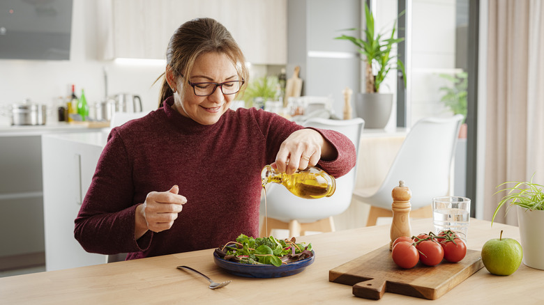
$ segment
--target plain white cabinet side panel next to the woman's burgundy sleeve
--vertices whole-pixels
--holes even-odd
[[[107,262],[107,256],[84,251],[73,233],[74,219],[91,185],[106,140],[107,132],[43,136],[43,210],[47,271]]]

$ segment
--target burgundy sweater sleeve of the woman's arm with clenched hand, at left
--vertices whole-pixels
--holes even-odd
[[[121,136],[109,134],[89,191],[75,219],[75,239],[91,253],[144,251],[151,244],[148,232],[135,240],[132,164]]]

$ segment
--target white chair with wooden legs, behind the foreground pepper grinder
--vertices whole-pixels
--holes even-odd
[[[371,205],[367,226],[391,217],[391,191],[400,180],[411,190],[411,217],[432,217],[431,201],[453,191],[453,156],[463,116],[423,118],[411,128],[377,191],[355,189],[356,200]]]

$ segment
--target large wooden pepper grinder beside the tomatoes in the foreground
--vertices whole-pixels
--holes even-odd
[[[411,237],[411,191],[405,186],[405,182],[400,180],[398,187],[395,187],[393,191],[391,191],[391,196],[393,197],[393,203],[391,204],[393,222],[391,223],[391,242],[389,243],[389,251],[391,251],[393,242],[398,237]]]

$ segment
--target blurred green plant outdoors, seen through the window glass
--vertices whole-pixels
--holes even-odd
[[[459,130],[459,137],[462,139],[467,138],[467,87],[468,87],[468,73],[459,72],[455,75],[440,74],[439,77],[446,79],[451,85],[442,86],[439,91],[444,91],[444,95],[440,101],[444,102],[446,107],[450,109],[453,114],[462,114],[464,116],[461,128]]]

